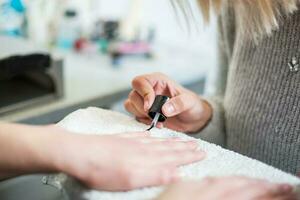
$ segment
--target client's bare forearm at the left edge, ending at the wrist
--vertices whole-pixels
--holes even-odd
[[[0,176],[56,172],[58,133],[53,126],[0,124]]]

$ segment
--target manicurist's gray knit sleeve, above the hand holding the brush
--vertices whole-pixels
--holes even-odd
[[[235,37],[234,16],[229,10],[223,12],[218,20],[218,66],[216,78],[213,82],[214,93],[204,96],[213,108],[213,116],[210,123],[195,136],[197,138],[226,145],[225,113],[223,101],[226,90],[229,64],[233,52]]]

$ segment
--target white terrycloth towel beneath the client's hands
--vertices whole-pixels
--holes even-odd
[[[71,113],[59,126],[81,134],[114,134],[130,131],[144,131],[147,126],[136,122],[124,114],[98,108],[88,108]],[[180,137],[194,139],[185,134],[168,129],[151,130],[154,137]],[[201,179],[206,176],[244,175],[266,179],[277,183],[299,185],[300,179],[257,160],[228,151],[214,144],[198,140],[199,148],[207,152],[206,159],[180,168],[182,176],[187,179]],[[134,168],[134,166],[132,166]],[[72,180],[70,177],[68,180]],[[73,181],[73,180],[72,180]],[[163,188],[145,188],[130,192],[105,192],[83,189],[83,196],[89,200],[141,200],[156,197]],[[78,188],[77,188],[78,190]]]

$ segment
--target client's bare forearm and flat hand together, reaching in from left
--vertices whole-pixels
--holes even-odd
[[[149,133],[79,135],[56,126],[0,123],[0,180],[64,172],[101,190],[130,190],[178,180],[177,166],[204,158],[196,141]]]

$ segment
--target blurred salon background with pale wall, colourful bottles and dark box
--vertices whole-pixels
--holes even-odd
[[[0,0],[0,120],[56,123],[88,106],[125,112],[131,80],[162,72],[214,92],[215,19],[190,1]],[[189,12],[191,12],[189,11]]]

